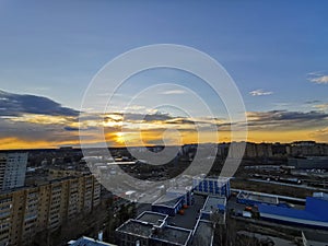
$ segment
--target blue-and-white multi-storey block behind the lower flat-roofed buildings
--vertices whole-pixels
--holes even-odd
[[[204,175],[192,178],[194,192],[199,195],[214,195],[230,197],[230,178],[206,177]]]

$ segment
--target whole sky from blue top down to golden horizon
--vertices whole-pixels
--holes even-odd
[[[327,1],[1,0],[0,149],[79,145],[79,128],[97,143],[98,127],[109,145],[230,141],[231,126],[241,122],[231,122],[222,98],[172,69],[136,74],[110,110],[79,122],[95,74],[153,44],[189,46],[223,66],[245,103],[248,141],[328,142],[327,8]],[[122,106],[160,83],[166,85],[152,96]],[[169,105],[154,108],[154,98]]]

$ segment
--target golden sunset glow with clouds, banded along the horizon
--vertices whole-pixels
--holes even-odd
[[[328,141],[328,129],[324,120],[301,121],[284,119],[283,112],[247,113],[250,142],[292,142],[300,140]],[[136,147],[156,144],[185,144],[232,141],[230,122],[224,119],[183,118],[166,115],[151,115],[140,120],[124,119],[119,113],[94,114],[85,118],[24,114],[3,118],[9,126],[1,137],[0,149],[58,148],[106,141],[108,147]],[[236,139],[243,137],[236,122]],[[80,127],[80,129],[79,129]],[[216,128],[218,127],[218,128]],[[101,136],[102,129],[105,133]],[[199,130],[197,130],[199,129]],[[218,129],[213,131],[212,129]],[[4,133],[4,132],[3,132]],[[243,138],[241,138],[243,139]]]

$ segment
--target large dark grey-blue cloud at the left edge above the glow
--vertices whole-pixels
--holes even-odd
[[[0,116],[21,116],[22,114],[78,116],[79,112],[62,107],[59,103],[44,96],[0,91]]]

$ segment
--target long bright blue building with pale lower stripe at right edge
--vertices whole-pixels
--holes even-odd
[[[279,223],[327,230],[328,199],[324,194],[321,196],[317,195],[306,198],[304,210],[259,203],[258,211],[260,218]]]

